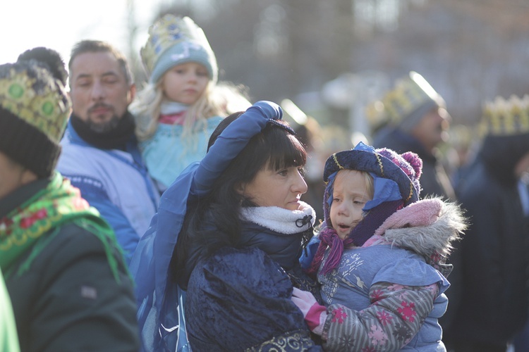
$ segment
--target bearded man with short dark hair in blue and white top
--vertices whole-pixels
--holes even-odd
[[[159,203],[128,112],[133,78],[126,58],[95,40],[75,44],[68,68],[73,112],[57,168],[110,223],[128,263]]]

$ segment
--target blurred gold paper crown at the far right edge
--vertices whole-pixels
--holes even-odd
[[[509,135],[529,132],[529,95],[511,95],[509,100],[497,96],[483,106],[480,122],[482,134]]]

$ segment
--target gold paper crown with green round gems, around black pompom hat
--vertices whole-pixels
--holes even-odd
[[[71,103],[63,85],[45,71],[11,65],[0,74],[0,106],[59,143]]]

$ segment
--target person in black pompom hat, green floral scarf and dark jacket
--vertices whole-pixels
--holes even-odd
[[[67,77],[43,47],[0,65],[0,268],[20,350],[138,351],[133,281],[114,231],[55,170]]]

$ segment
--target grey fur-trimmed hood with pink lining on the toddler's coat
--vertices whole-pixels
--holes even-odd
[[[389,243],[439,263],[449,255],[451,243],[461,238],[466,227],[458,204],[439,198],[424,199],[387,218],[364,246]]]

